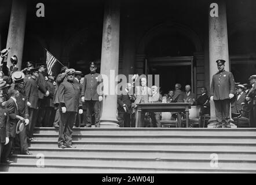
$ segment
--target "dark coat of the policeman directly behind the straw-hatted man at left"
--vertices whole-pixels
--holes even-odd
[[[32,77],[25,83],[25,94],[27,101],[31,103],[30,108],[38,109],[38,84]]]

